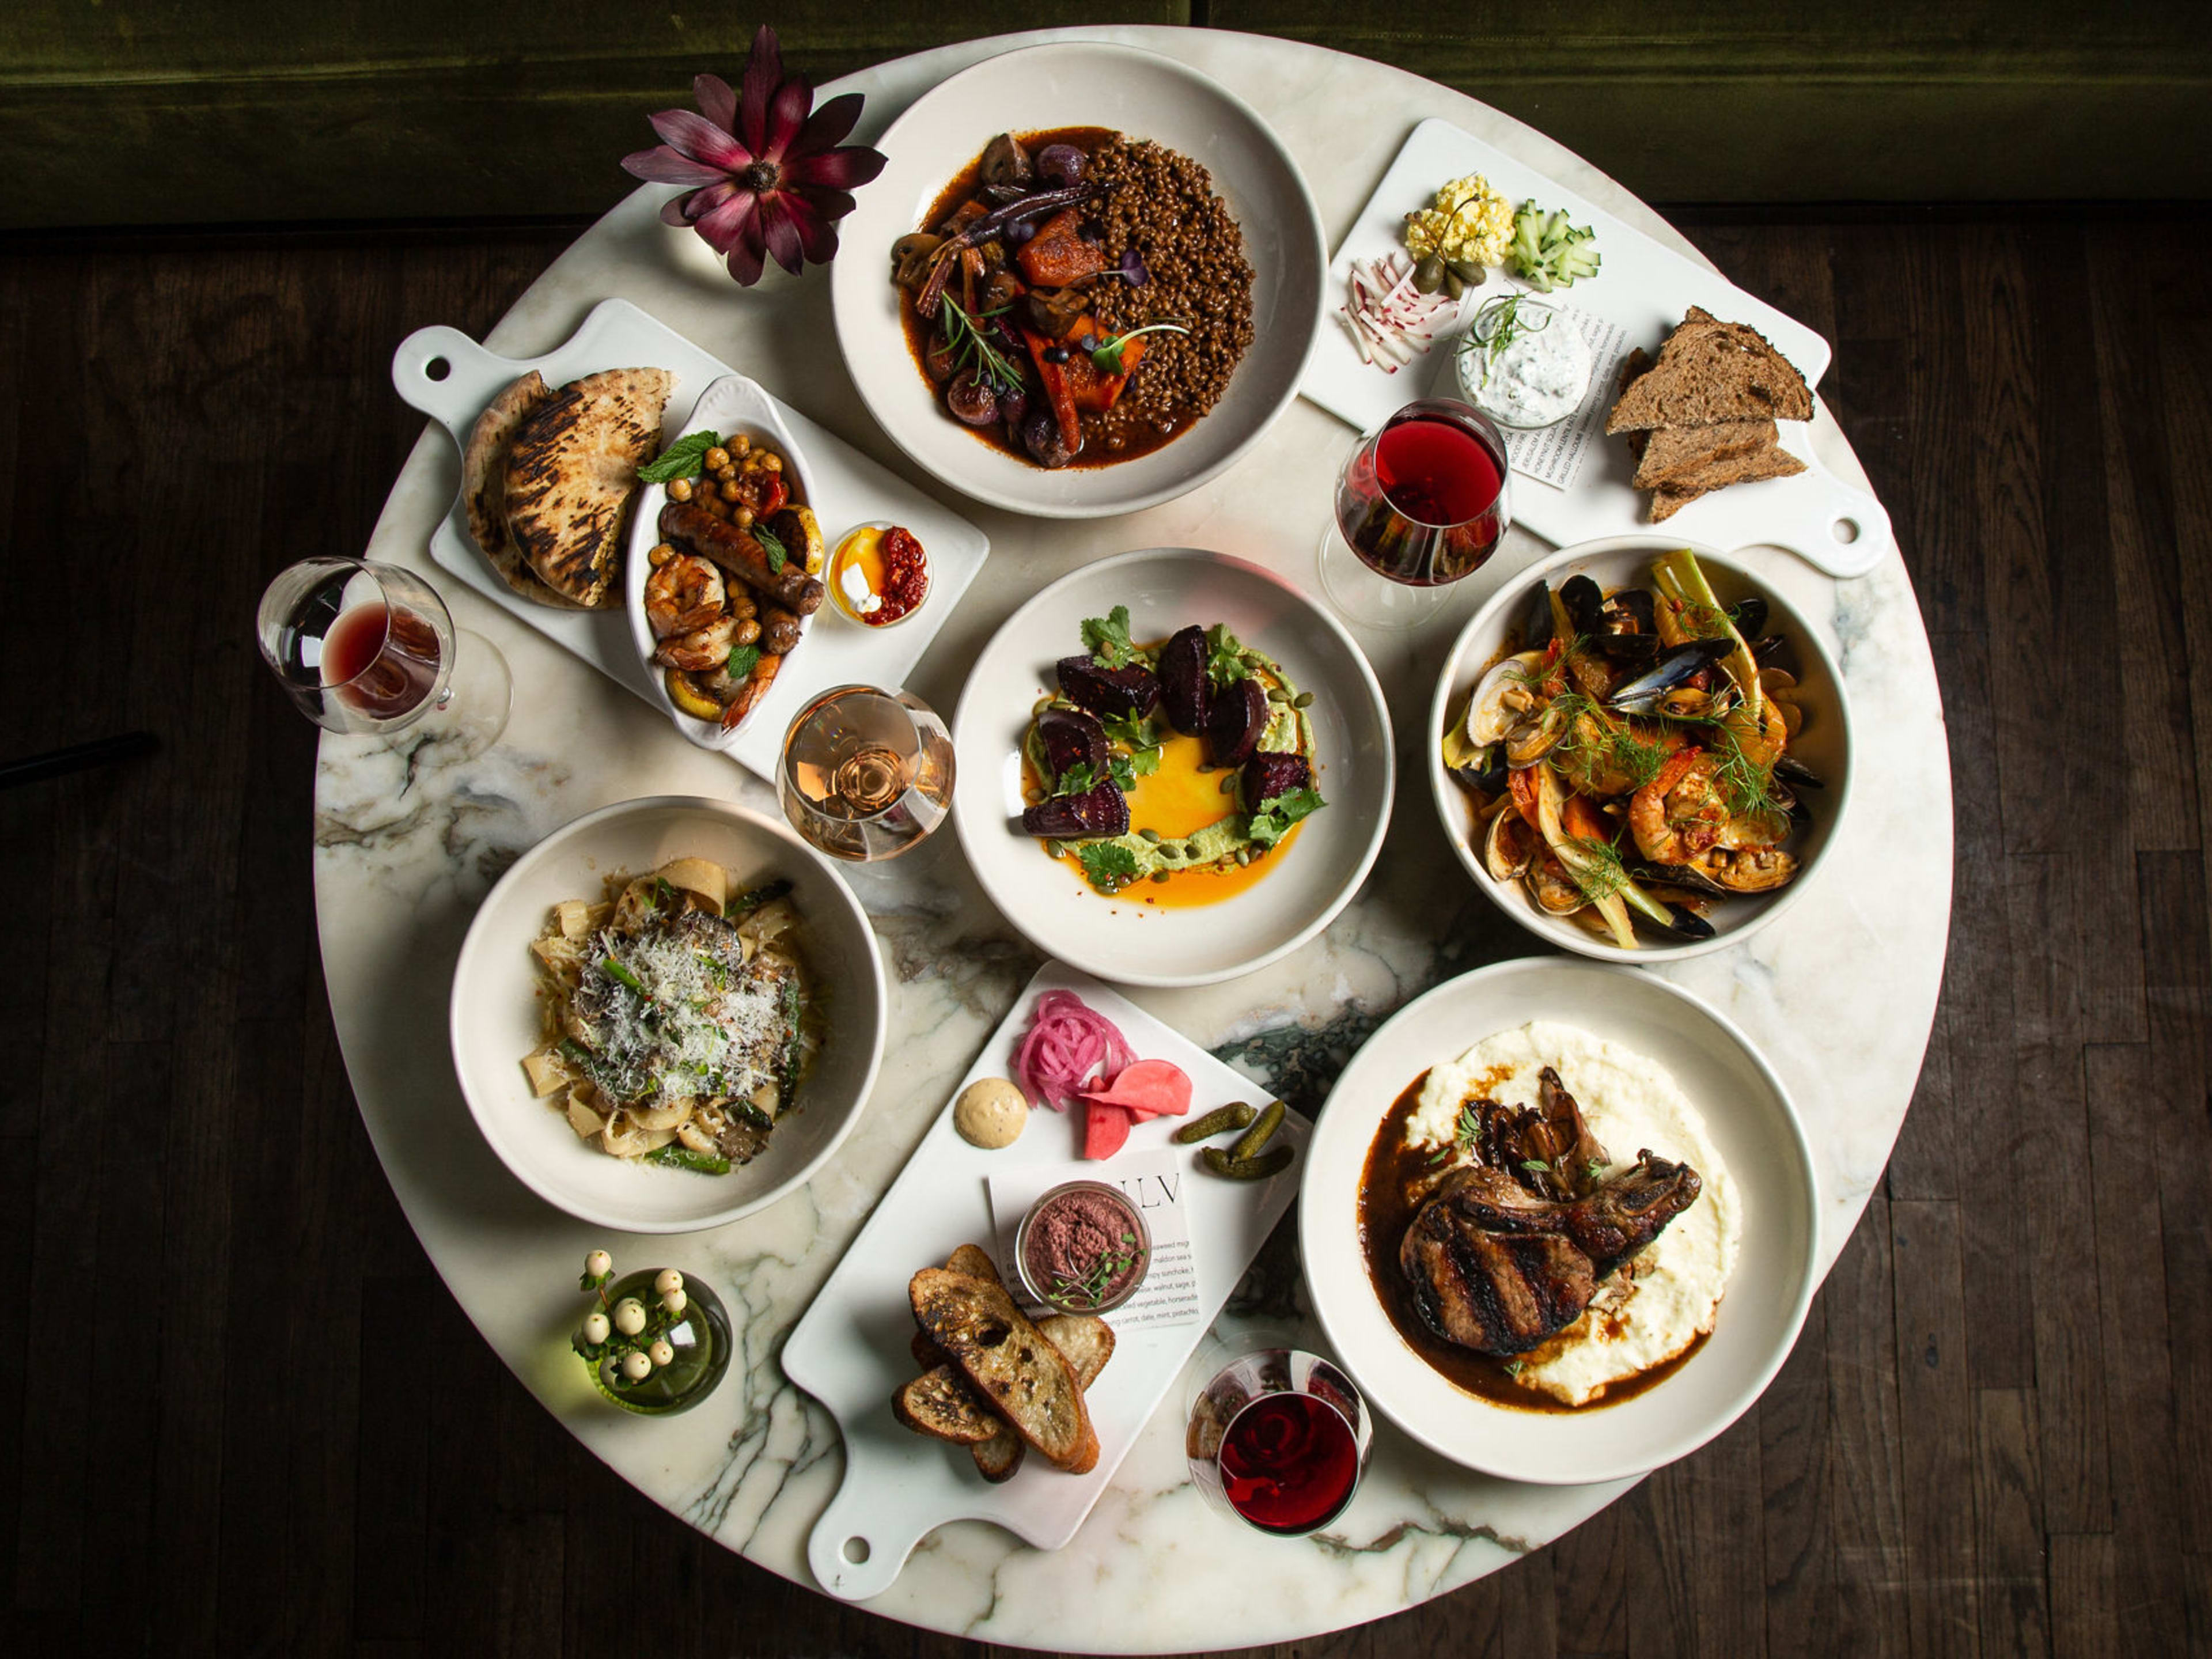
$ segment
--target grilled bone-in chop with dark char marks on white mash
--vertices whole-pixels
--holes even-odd
[[[1447,1175],[1405,1230],[1398,1265],[1422,1321],[1480,1354],[1526,1354],[1582,1318],[1597,1285],[1697,1203],[1688,1164],[1650,1152],[1588,1194],[1553,1201],[1515,1175]]]

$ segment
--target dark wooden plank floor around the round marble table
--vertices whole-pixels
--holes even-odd
[[[584,1455],[429,1272],[332,1042],[314,732],[252,604],[367,538],[420,431],[392,343],[482,332],[566,237],[0,243],[0,757],[164,741],[0,792],[13,1652],[967,1648]],[[1732,1433],[1528,1562],[1276,1652],[2212,1650],[2212,234],[1694,237],[1836,341],[1936,641],[1958,898],[1920,1095]]]

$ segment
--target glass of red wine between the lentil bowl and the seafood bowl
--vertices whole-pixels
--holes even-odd
[[[1504,540],[1504,434],[1471,405],[1422,398],[1360,438],[1321,538],[1321,586],[1363,628],[1411,628]],[[1374,577],[1387,577],[1376,582]]]

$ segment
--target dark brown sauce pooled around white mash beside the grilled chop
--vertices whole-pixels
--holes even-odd
[[[1674,1358],[1608,1385],[1588,1405],[1562,1405],[1548,1394],[1522,1387],[1506,1369],[1509,1360],[1447,1343],[1429,1329],[1413,1307],[1405,1272],[1398,1267],[1398,1245],[1405,1241],[1405,1230],[1413,1225],[1413,1214],[1422,1206],[1418,1194],[1427,1190],[1427,1179],[1436,1172],[1436,1166],[1429,1161],[1433,1152],[1409,1146],[1405,1139],[1405,1126],[1420,1106],[1420,1086],[1425,1082],[1429,1082],[1429,1073],[1420,1073],[1420,1077],[1407,1084],[1407,1091],[1385,1113],[1374,1141],[1367,1146],[1367,1161],[1360,1168],[1360,1256],[1367,1261],[1367,1281],[1376,1287],[1376,1301],[1383,1303],[1383,1312],[1389,1314],[1389,1323],[1405,1338],[1405,1345],[1420,1354],[1429,1369],[1453,1387],[1515,1411],[1551,1411],[1562,1416],[1597,1411],[1621,1400],[1632,1400],[1674,1376],[1705,1345],[1705,1336],[1699,1336]],[[1544,1347],[1524,1354],[1522,1360],[1544,1358],[1557,1352],[1553,1345],[1564,1345],[1566,1340],[1562,1332]]]

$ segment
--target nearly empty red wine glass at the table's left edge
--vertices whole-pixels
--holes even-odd
[[[471,759],[507,730],[507,659],[398,564],[301,560],[270,582],[254,626],[263,661],[325,732],[414,732]]]

